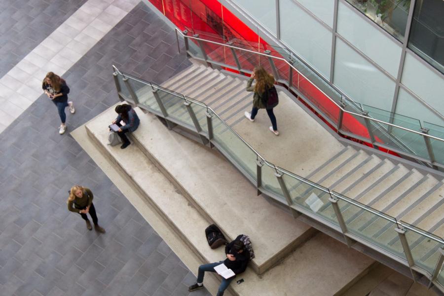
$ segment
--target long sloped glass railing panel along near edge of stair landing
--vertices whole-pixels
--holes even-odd
[[[256,152],[217,115],[213,115],[212,121],[214,140],[248,175],[256,180]]]

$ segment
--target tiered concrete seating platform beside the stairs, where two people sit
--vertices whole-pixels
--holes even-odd
[[[131,135],[138,144],[125,150],[106,145],[108,132],[103,126],[114,117],[113,109],[87,123],[91,139],[180,233],[186,245],[202,258],[202,263],[223,258],[223,248],[212,250],[206,243],[203,230],[210,222],[217,221],[229,238],[239,233],[247,233],[252,238],[257,258],[242,274],[245,283],[230,285],[229,292],[233,295],[332,295],[347,289],[372,264],[368,257],[325,234],[318,233],[307,241],[313,235],[310,227],[282,215],[280,210],[257,197],[254,187],[217,152],[171,133],[155,116],[143,114],[138,108],[141,125]],[[141,146],[142,143],[145,146]],[[150,153],[149,160],[146,153]],[[173,185],[159,181],[151,161],[163,174],[174,178],[169,180],[176,186],[175,190],[167,188]],[[176,165],[178,169],[166,171]],[[191,201],[190,196],[196,199]],[[203,207],[207,212],[202,212]],[[275,231],[276,228],[279,231]],[[300,245],[301,242],[305,244]],[[299,248],[290,252],[296,246]],[[269,259],[279,257],[278,249],[286,256],[273,267],[276,261],[271,263]],[[264,262],[266,258],[268,262]],[[262,266],[259,262],[263,262]],[[264,264],[271,265],[259,276],[256,269]],[[340,274],[335,272],[337,268],[341,268]],[[319,272],[321,269],[323,272]],[[312,281],[318,284],[298,290]]]

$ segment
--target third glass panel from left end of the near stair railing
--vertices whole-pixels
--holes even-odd
[[[194,130],[193,121],[184,104],[185,99],[173,92],[165,91],[163,89],[158,89],[157,93],[159,94],[160,101],[163,103],[168,116],[180,120]]]

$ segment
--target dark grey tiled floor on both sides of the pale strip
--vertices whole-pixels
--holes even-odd
[[[1,67],[2,74],[52,33],[45,29],[46,35],[34,40],[35,30],[20,30],[22,18],[34,15],[36,23],[28,26],[37,28],[48,22],[41,13],[57,15],[49,21],[55,30],[84,2],[0,0],[1,20],[7,19],[20,39],[32,40],[28,52],[23,49],[18,58],[8,59],[9,70]],[[8,32],[2,21],[0,50],[18,46]],[[76,107],[74,115],[67,114],[68,132],[117,102],[111,64],[158,83],[187,67],[189,61],[177,53],[175,42],[174,31],[139,3],[85,55],[66,50],[62,57],[73,66],[64,78]],[[188,295],[186,286],[195,281],[192,273],[69,133],[58,134],[59,124],[55,107],[40,95],[0,134],[0,294]],[[73,184],[95,193],[106,234],[88,231],[78,215],[68,212],[67,190]],[[191,295],[209,294],[200,290]]]

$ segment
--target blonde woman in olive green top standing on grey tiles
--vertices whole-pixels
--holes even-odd
[[[82,219],[86,221],[86,228],[91,230],[91,222],[89,222],[88,216],[86,216],[89,213],[94,223],[94,229],[97,232],[105,233],[105,229],[100,227],[97,222],[96,209],[92,203],[93,198],[94,195],[89,188],[74,185],[71,187],[70,196],[68,197],[68,210],[80,214]]]

